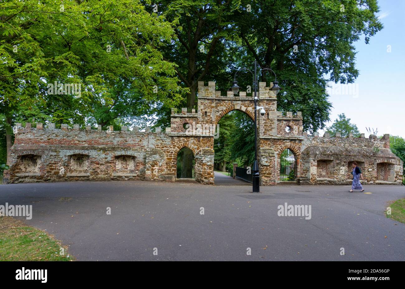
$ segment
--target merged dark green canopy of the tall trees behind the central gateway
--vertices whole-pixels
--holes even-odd
[[[252,69],[254,59],[277,74],[284,88],[279,111],[302,111],[307,131],[324,128],[331,104],[326,83],[353,82],[358,76],[354,42],[382,29],[377,0],[290,0],[255,2],[163,1],[161,13],[175,26],[164,56],[176,63],[189,88],[186,105],[195,108],[198,81],[215,80],[227,90],[233,73]],[[261,81],[274,75],[259,75]],[[252,86],[252,77],[239,85]],[[197,96],[198,97],[198,96]]]

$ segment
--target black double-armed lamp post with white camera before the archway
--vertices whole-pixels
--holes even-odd
[[[260,67],[260,66],[259,66]],[[278,81],[277,81],[277,75],[275,74],[275,72],[269,68],[263,68],[260,67],[261,71],[271,71],[273,72],[274,76],[275,76],[275,81],[273,82],[273,87],[271,88],[271,90],[273,90],[273,92],[275,94],[277,94],[280,91],[280,87],[278,86]],[[258,107],[258,97],[257,97],[257,62],[256,60],[254,61],[254,73],[247,68],[241,68],[238,69],[238,71],[235,73],[235,77],[233,80],[233,84],[231,87],[231,90],[234,94],[237,94],[239,92],[239,86],[238,86],[238,81],[236,81],[236,74],[239,71],[242,70],[247,70],[250,73],[252,73],[253,76],[253,83],[254,83],[254,164],[253,164],[253,193],[259,193],[260,192],[260,174],[259,174],[259,164],[257,161],[257,113],[256,113],[256,109],[260,109],[260,114],[264,115],[266,113],[266,111],[264,111],[264,107]]]

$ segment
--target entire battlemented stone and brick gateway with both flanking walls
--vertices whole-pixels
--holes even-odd
[[[277,111],[277,96],[266,83],[259,84],[258,148],[261,184],[279,182],[280,154],[289,148],[296,158],[299,184],[346,184],[350,182],[351,163],[357,161],[368,183],[401,183],[402,161],[390,151],[389,135],[382,139],[370,135],[329,137],[327,133],[308,136],[303,132],[301,112]],[[171,127],[164,132],[79,129],[55,124],[47,128],[38,123],[15,127],[15,142],[7,163],[4,181],[58,182],[67,180],[166,180],[174,182],[177,153],[188,147],[195,157],[195,179],[213,184],[213,140],[215,126],[226,113],[244,111],[254,118],[252,97],[246,92],[222,96],[215,82],[198,83],[198,110],[172,109]],[[286,127],[288,129],[286,130]]]

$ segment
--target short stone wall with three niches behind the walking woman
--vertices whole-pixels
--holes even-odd
[[[388,134],[381,139],[375,135],[365,138],[306,136],[301,146],[300,183],[349,184],[352,163],[362,170],[362,182],[390,184],[402,182],[403,162],[390,150]],[[380,172],[380,174],[379,174]]]

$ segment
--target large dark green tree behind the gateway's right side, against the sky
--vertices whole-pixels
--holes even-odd
[[[383,28],[378,11],[377,0],[243,0],[232,17],[237,59],[273,69],[283,88],[277,110],[302,111],[304,129],[317,131],[329,120],[327,81],[356,79],[354,42],[364,36],[368,43]]]

